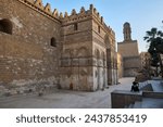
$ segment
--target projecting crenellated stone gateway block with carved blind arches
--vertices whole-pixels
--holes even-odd
[[[108,27],[97,9],[90,4],[77,13],[65,13],[62,23],[61,87],[63,89],[96,91],[108,86],[108,75],[112,82],[117,82],[115,52],[115,34]],[[108,39],[105,39],[108,37]],[[111,41],[110,41],[111,40]],[[106,54],[106,49],[111,52]],[[111,56],[113,55],[113,56]],[[111,59],[112,58],[112,59]],[[108,62],[108,59],[111,62]],[[106,63],[112,64],[108,71]],[[114,65],[113,65],[114,63]],[[111,84],[112,84],[111,82]]]

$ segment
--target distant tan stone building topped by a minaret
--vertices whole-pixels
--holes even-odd
[[[117,52],[123,58],[124,77],[135,77],[140,68],[140,56],[137,40],[131,39],[129,23],[124,24],[124,41],[117,43]]]

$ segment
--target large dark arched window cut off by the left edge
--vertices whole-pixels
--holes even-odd
[[[0,20],[0,31],[12,35],[12,23],[11,21],[4,18]]]

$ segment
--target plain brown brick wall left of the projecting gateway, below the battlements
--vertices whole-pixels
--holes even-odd
[[[2,0],[0,18],[12,22],[12,35],[0,31],[0,75],[1,82],[13,80],[48,80],[57,82],[58,60],[60,58],[61,23],[46,17],[39,12],[18,2]],[[57,47],[51,47],[51,38]]]

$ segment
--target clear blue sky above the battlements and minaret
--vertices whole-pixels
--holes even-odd
[[[82,7],[89,9],[93,4],[106,25],[116,34],[116,41],[123,40],[123,24],[129,22],[131,26],[131,38],[138,40],[139,52],[147,51],[147,42],[143,41],[146,31],[151,27],[162,28],[163,24],[163,0],[42,0],[43,4],[50,3],[51,9],[59,12],[72,9],[79,12]],[[163,28],[162,28],[163,30]]]

